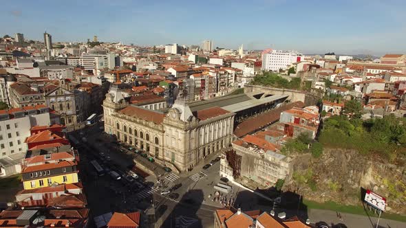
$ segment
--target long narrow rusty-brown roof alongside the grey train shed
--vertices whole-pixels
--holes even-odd
[[[273,109],[266,113],[251,117],[250,119],[246,119],[244,122],[237,124],[237,127],[234,130],[234,135],[242,137],[249,133],[253,133],[269,124],[277,122],[280,118],[281,112],[292,109],[293,107],[303,108],[304,106],[303,102],[292,102],[285,106],[281,106],[279,109]]]

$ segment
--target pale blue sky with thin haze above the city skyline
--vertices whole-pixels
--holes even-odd
[[[406,53],[405,10],[404,0],[12,0],[1,1],[0,34],[380,55]]]

